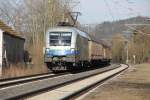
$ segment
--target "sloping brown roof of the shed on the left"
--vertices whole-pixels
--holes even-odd
[[[0,29],[4,31],[4,34],[11,35],[15,38],[23,39],[25,38],[21,37],[18,32],[13,30],[10,26],[6,25],[3,21],[0,20]]]

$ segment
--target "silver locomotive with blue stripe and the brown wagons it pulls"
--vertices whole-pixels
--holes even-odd
[[[46,32],[44,61],[53,71],[106,65],[111,60],[109,46],[72,26],[57,26]]]

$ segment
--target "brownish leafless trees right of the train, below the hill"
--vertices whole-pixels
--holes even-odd
[[[127,49],[129,63],[150,62],[150,27],[144,26],[137,30],[133,31],[130,39],[121,34],[112,38],[113,62],[126,63]]]

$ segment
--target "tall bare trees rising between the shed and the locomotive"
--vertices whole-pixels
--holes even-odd
[[[0,18],[17,31],[23,32],[30,50],[42,52],[49,27],[61,21],[71,11],[73,0],[5,0],[0,1]],[[65,16],[68,17],[68,16]],[[39,49],[40,51],[36,50]],[[42,54],[40,54],[42,55]],[[36,57],[35,57],[36,58]]]

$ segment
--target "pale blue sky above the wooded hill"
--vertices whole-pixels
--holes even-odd
[[[150,17],[150,0],[78,0],[74,11],[81,24],[97,24],[135,16]]]

